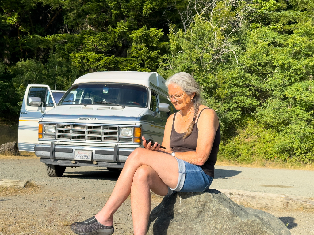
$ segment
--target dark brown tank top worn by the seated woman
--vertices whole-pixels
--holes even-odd
[[[206,109],[206,108],[204,108]],[[203,110],[199,113],[199,116],[203,112]],[[173,122],[172,122],[172,128],[171,128],[171,135],[170,135],[170,148],[173,152],[195,152],[196,151],[196,145],[198,140],[198,119],[193,127],[192,133],[183,140],[183,136],[185,133],[177,133],[175,130],[174,122],[176,118],[176,113],[173,116]],[[218,130],[215,133],[215,139],[213,143],[212,150],[209,154],[209,157],[204,165],[200,166],[206,175],[209,175],[214,178],[214,165],[217,162],[217,154],[219,150],[219,144],[221,141],[220,136],[220,124],[218,126]]]

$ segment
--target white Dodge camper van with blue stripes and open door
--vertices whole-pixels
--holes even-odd
[[[51,177],[62,176],[66,167],[118,170],[134,149],[143,147],[142,136],[162,142],[167,118],[176,112],[167,95],[165,79],[156,72],[86,74],[58,105],[49,86],[28,85],[19,150],[35,152]]]

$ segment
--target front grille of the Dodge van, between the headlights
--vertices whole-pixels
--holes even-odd
[[[133,137],[119,137],[119,126],[57,124],[56,134],[43,134],[45,139],[133,143]]]

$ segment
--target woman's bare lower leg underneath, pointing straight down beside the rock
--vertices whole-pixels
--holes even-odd
[[[133,177],[131,187],[131,206],[135,235],[146,234],[151,209],[150,189],[159,195],[167,195],[166,185],[156,173],[147,165],[140,166]]]

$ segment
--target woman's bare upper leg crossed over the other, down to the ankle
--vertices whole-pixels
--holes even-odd
[[[176,187],[179,178],[179,168],[175,157],[148,149],[135,149],[128,157],[106,205],[95,215],[100,223],[107,226],[113,224],[113,214],[130,195],[134,173],[142,165],[153,168],[166,185],[169,185],[171,188]]]

